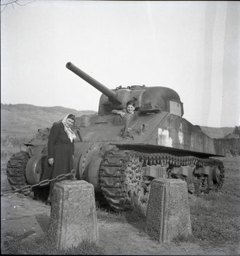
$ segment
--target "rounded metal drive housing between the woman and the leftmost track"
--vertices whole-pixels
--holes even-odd
[[[28,180],[28,184],[35,185],[36,183],[40,182],[46,157],[47,155],[42,155],[39,153],[29,159],[25,169],[25,175],[26,179]]]

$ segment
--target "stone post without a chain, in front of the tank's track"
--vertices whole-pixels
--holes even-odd
[[[188,187],[183,180],[155,179],[151,184],[145,231],[159,242],[191,235]]]

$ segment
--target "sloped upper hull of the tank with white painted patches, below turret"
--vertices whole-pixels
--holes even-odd
[[[129,124],[126,122],[116,115],[92,115],[79,117],[76,126],[81,129],[81,136],[88,143],[111,143],[137,151],[166,151],[205,158],[225,155],[216,140],[180,116],[164,111],[145,115],[135,113]],[[122,135],[121,131],[126,125],[127,132]]]

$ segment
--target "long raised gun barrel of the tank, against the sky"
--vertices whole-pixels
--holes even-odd
[[[98,89],[100,92],[102,92],[104,95],[108,96],[109,100],[115,100],[116,101],[116,93],[113,92],[111,89],[108,89],[103,84],[101,84],[99,81],[93,79],[91,76],[89,76],[84,71],[81,71],[81,69],[77,68],[76,65],[73,65],[73,63],[67,63],[66,68],[68,68],[73,73],[76,73],[77,76],[80,76],[81,79],[84,79],[84,81],[87,81],[87,83],[91,84],[93,87]]]

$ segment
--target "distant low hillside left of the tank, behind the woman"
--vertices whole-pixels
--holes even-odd
[[[52,123],[63,119],[68,113],[83,116],[95,111],[76,111],[72,108],[39,107],[28,104],[1,103],[1,137],[6,135],[31,136],[39,128],[52,127]]]

